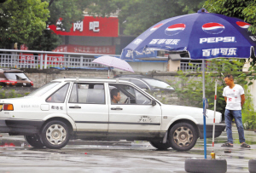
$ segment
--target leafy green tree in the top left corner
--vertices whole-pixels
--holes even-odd
[[[0,3],[0,46],[32,43],[46,28],[48,3],[41,0],[7,0]]]

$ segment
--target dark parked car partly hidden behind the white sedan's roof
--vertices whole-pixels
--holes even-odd
[[[119,78],[121,80],[129,81],[133,84],[136,84],[138,87],[144,90],[151,90],[151,91],[174,90],[174,88],[170,84],[167,84],[166,82],[160,79],[150,78],[143,75],[137,75],[137,74],[116,75],[113,78]]]

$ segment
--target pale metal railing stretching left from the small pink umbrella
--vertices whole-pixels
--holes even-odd
[[[9,52],[9,54],[0,54],[0,66],[9,68],[39,68],[47,69],[49,67],[58,68],[102,68],[102,66],[91,61],[94,56],[100,54],[79,54],[67,52],[50,51],[32,51],[16,49],[0,49],[0,52]],[[38,55],[34,55],[38,54]],[[112,55],[119,56],[119,55]]]

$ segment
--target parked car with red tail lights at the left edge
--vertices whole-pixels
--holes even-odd
[[[3,87],[32,87],[33,82],[23,71],[11,68],[0,69],[0,85]]]

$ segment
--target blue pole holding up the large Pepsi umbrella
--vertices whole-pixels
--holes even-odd
[[[206,112],[205,107],[205,98],[206,98],[206,91],[205,91],[205,60],[202,60],[202,84],[203,84],[203,112]],[[205,159],[207,159],[207,119],[206,115],[203,115],[204,118],[204,153],[205,153]]]

